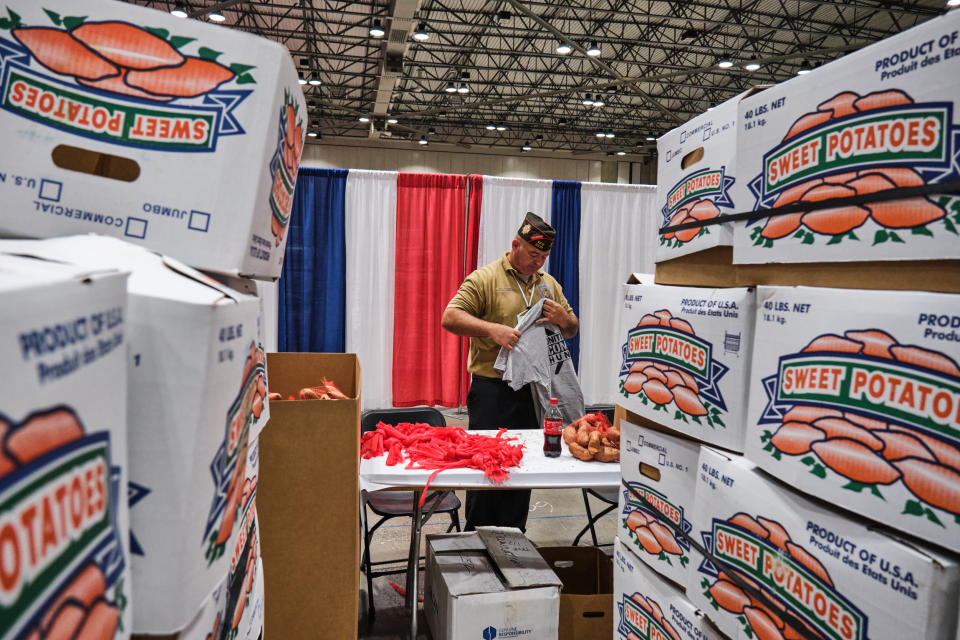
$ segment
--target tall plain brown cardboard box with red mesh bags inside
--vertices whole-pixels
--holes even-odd
[[[326,376],[349,400],[270,404],[260,437],[258,518],[271,637],[357,637],[360,591],[360,363],[352,353],[270,353],[283,397]]]

